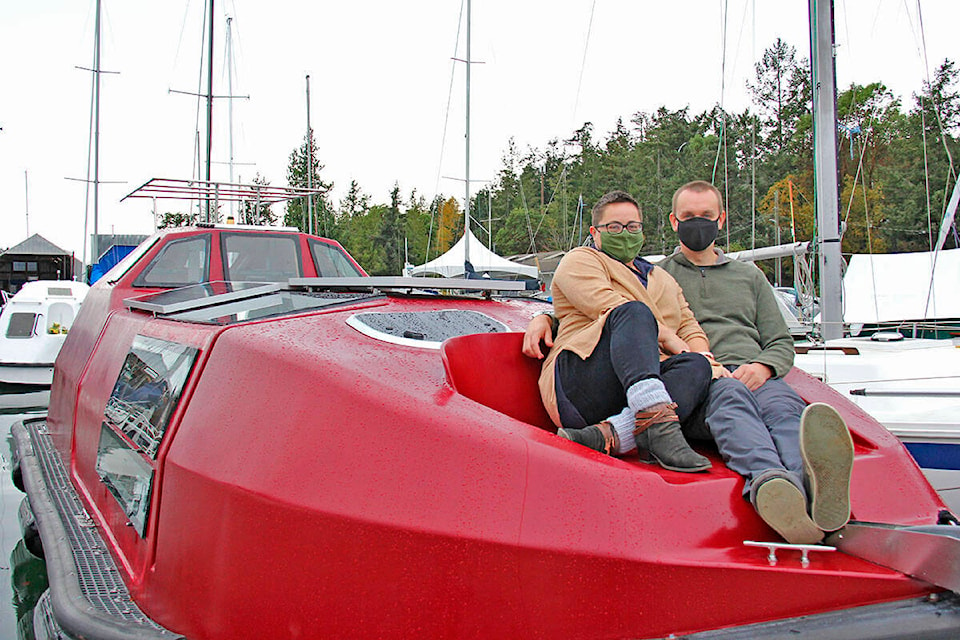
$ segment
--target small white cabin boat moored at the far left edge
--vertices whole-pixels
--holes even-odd
[[[0,383],[50,386],[53,363],[89,289],[70,280],[21,287],[0,313]]]

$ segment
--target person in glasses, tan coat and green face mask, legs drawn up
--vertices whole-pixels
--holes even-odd
[[[673,278],[637,257],[637,202],[613,191],[592,215],[596,248],[569,252],[553,279],[559,331],[540,375],[544,405],[561,437],[704,471],[710,461],[690,448],[681,423],[700,409],[713,375],[712,358],[696,353],[707,351],[706,335]]]

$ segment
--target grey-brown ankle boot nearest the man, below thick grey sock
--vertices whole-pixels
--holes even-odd
[[[677,405],[661,403],[637,412],[637,428],[633,436],[637,441],[640,460],[652,464],[656,461],[664,469],[695,473],[710,468],[710,460],[690,448],[680,432]]]

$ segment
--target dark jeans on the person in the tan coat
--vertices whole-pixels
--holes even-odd
[[[557,408],[564,427],[578,429],[620,413],[627,389],[659,379],[686,422],[707,397],[710,363],[699,353],[681,353],[660,362],[657,321],[642,302],[610,312],[600,342],[586,360],[572,351],[557,357]]]

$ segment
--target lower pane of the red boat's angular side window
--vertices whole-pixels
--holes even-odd
[[[104,422],[97,447],[97,475],[142,538],[147,530],[153,466]]]

